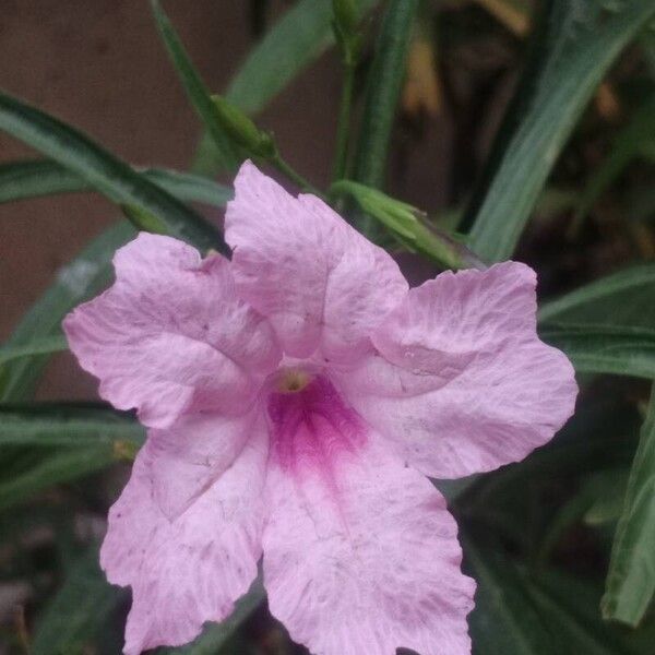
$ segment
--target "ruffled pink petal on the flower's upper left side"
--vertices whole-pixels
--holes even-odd
[[[237,298],[229,262],[148,234],[114,262],[114,286],[64,321],[100,395],[158,428],[200,409],[246,412],[281,353],[265,319]]]

